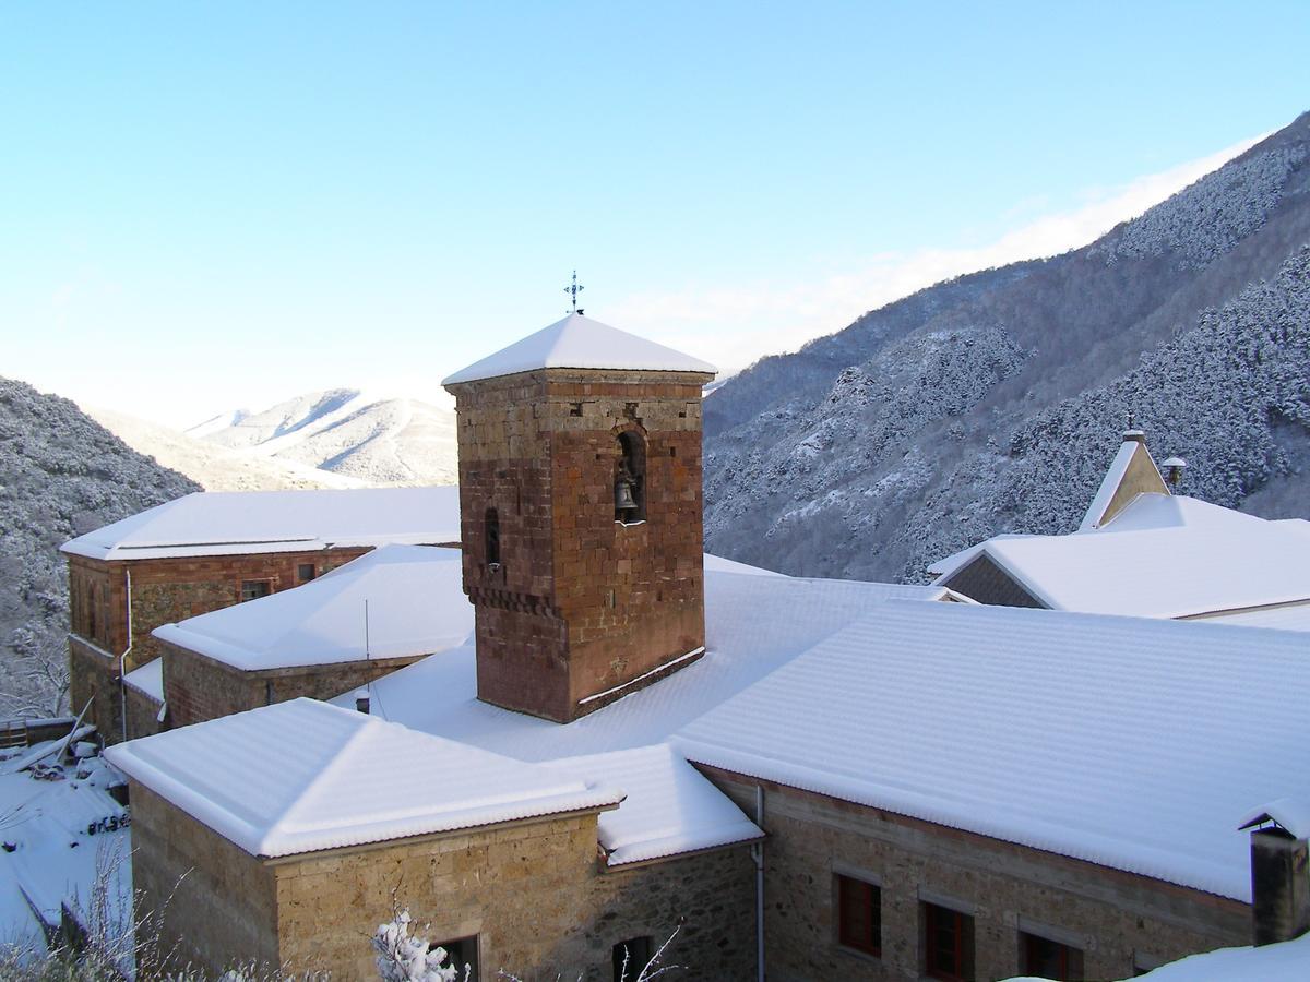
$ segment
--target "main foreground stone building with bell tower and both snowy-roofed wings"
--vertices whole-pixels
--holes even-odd
[[[617,979],[625,945],[675,928],[684,977],[774,981],[1128,977],[1248,939],[1238,826],[1310,799],[1303,634],[758,575],[688,560],[659,528],[672,556],[638,570],[630,509],[643,492],[654,525],[655,484],[676,481],[650,448],[698,420],[643,410],[639,386],[658,403],[659,372],[692,369],[601,327],[566,318],[452,382],[474,431],[470,643],[373,681],[368,715],[343,691],[109,752],[138,886],[161,900],[196,871],[164,914],[183,952],[367,977],[362,935],[393,892],[483,979]],[[593,419],[574,415],[587,385]],[[645,465],[620,439],[635,420]],[[685,591],[662,600],[686,562],[703,640]]]

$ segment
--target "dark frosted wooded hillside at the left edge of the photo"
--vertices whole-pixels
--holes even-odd
[[[59,545],[199,490],[67,399],[0,378],[0,716],[56,710],[68,655]]]

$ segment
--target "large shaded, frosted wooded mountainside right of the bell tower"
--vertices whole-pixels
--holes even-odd
[[[1303,115],[1086,249],[921,291],[728,380],[705,411],[707,549],[921,580],[997,532],[1076,528],[1129,412],[1188,458],[1186,492],[1306,516],[1307,151]]]

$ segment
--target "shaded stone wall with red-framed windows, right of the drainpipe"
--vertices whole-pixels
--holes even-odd
[[[755,779],[702,769],[755,808]],[[1250,907],[1222,897],[772,783],[765,937],[772,982],[922,975],[921,901],[975,918],[980,979],[1022,973],[1019,930],[1083,951],[1086,978],[1247,944]],[[837,943],[834,875],[882,889],[882,957]]]

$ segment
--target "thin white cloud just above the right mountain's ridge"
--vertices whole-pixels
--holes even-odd
[[[1058,255],[1094,242],[1121,221],[1217,170],[1263,140],[1243,140],[1208,157],[1148,174],[1117,189],[1089,189],[1086,204],[1044,215],[971,249],[924,249],[867,257],[849,271],[785,288],[756,283],[677,293],[642,293],[612,308],[614,323],[694,350],[724,371],[845,327],[866,310],[934,283],[996,266]],[[1024,209],[1040,199],[1023,206]]]

